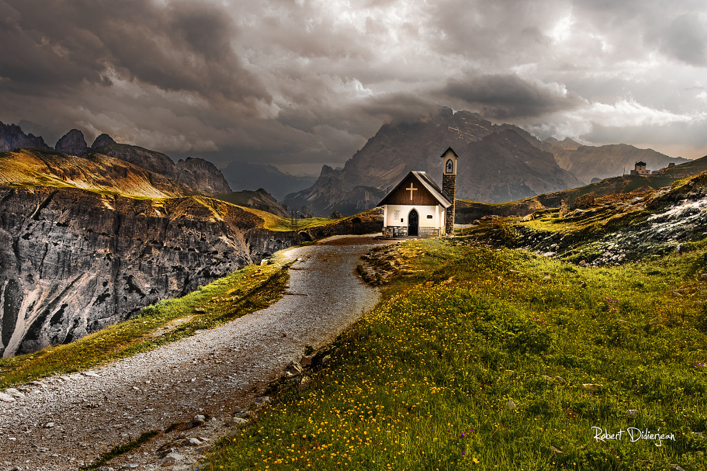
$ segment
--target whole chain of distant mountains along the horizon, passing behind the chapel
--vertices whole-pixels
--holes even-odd
[[[185,184],[194,192],[218,194],[226,201],[250,201],[253,207],[278,215],[284,209],[274,198],[284,198],[286,206],[298,211],[306,205],[317,215],[334,211],[351,215],[373,208],[411,170],[423,170],[440,183],[439,156],[450,146],[460,155],[457,198],[485,203],[577,188],[628,173],[638,161],[646,162],[648,169],[689,162],[626,144],[592,147],[570,138],[539,141],[513,124],[492,124],[479,114],[455,113],[444,107],[430,119],[382,126],[343,169],[325,165],[317,179],[284,174],[273,165],[232,162],[223,170],[228,181],[249,191],[228,198],[225,195],[231,193],[231,187],[224,174],[200,158],[175,163],[163,153],[116,143],[107,134],[98,136],[88,148],[83,133],[76,129],[62,136],[55,149],[79,157],[89,153],[116,157]],[[21,147],[51,149],[41,137],[0,123],[0,151]],[[265,197],[262,189],[271,191],[274,198]]]

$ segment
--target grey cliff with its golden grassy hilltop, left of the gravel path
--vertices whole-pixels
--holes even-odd
[[[0,354],[70,342],[293,244],[381,225],[372,213],[275,232],[276,216],[192,192],[100,153],[0,153]]]

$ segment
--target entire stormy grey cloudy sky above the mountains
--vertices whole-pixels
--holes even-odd
[[[0,0],[0,121],[173,157],[341,165],[438,107],[707,154],[703,0]]]

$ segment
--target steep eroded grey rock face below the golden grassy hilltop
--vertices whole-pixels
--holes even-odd
[[[76,340],[311,237],[209,204],[0,187],[0,352]]]

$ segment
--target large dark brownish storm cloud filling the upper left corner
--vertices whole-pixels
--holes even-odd
[[[230,47],[230,16],[181,1],[0,2],[0,90],[71,93],[124,79],[247,105],[269,95]]]

